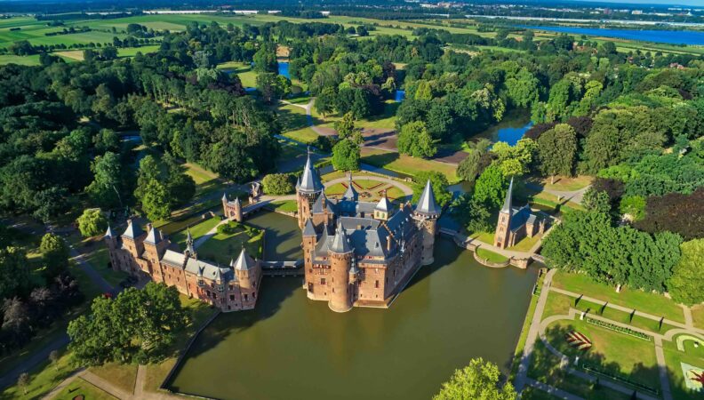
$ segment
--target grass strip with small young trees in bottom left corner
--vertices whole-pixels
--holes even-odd
[[[38,399],[68,378],[76,367],[71,363],[70,354],[62,352],[59,360],[52,365],[48,360],[28,372],[29,384],[26,388],[12,385],[6,388],[0,398],[7,399]],[[27,394],[25,394],[25,390]]]

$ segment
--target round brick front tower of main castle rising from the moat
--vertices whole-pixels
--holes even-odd
[[[340,222],[335,236],[332,238],[332,244],[330,244],[332,293],[328,307],[332,311],[343,313],[352,308],[352,285],[349,284],[349,272],[354,256],[355,253],[349,245],[348,236]]]

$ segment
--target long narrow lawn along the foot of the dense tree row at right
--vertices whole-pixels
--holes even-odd
[[[630,290],[628,287],[622,288],[621,292],[617,293],[614,287],[598,284],[586,275],[563,271],[556,273],[553,285],[571,292],[583,293],[598,300],[609,301],[612,304],[636,308],[653,316],[665,316],[672,321],[684,324],[682,308],[675,301],[658,293]]]

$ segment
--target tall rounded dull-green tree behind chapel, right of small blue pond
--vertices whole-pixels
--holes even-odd
[[[540,171],[550,176],[551,183],[555,175],[572,175],[576,156],[577,134],[568,124],[557,124],[538,138]]]

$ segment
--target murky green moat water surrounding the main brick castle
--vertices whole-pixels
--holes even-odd
[[[300,252],[296,221],[260,214],[269,249]],[[271,251],[271,250],[268,250]],[[476,264],[438,239],[390,309],[333,313],[300,278],[265,277],[257,308],[219,316],[190,349],[170,388],[221,399],[429,399],[454,369],[482,356],[504,371],[536,274]]]

